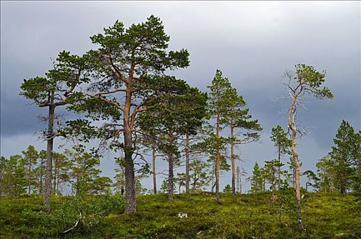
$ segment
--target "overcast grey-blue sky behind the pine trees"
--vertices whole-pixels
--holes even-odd
[[[325,85],[334,93],[332,100],[310,98],[302,112],[308,128],[298,144],[302,171],[315,169],[330,152],[342,119],[360,130],[360,1],[1,1],[1,155],[21,153],[29,144],[46,147],[34,136],[42,128],[37,115],[46,111],[18,95],[23,79],[44,75],[59,51],[94,48],[89,37],[116,20],[129,26],[150,14],[163,20],[171,50],[190,53],[189,68],[172,74],[206,91],[221,69],[259,119],[260,142],[239,147],[244,162],[238,165],[249,175],[255,161],[276,156],[269,135],[277,124],[286,127],[282,75],[295,64],[327,70]],[[165,167],[159,162],[159,170]],[[101,168],[114,175],[111,156]],[[150,181],[144,180],[148,188]],[[228,183],[230,173],[224,173],[221,188]]]

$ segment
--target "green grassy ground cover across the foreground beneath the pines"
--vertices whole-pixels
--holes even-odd
[[[64,200],[72,198],[57,197],[53,206]],[[88,200],[93,205],[103,197]],[[49,225],[44,221],[24,218],[24,210],[40,211],[41,203],[40,197],[2,197],[0,238],[361,238],[361,204],[353,195],[306,193],[302,200],[306,231],[297,230],[293,213],[287,210],[279,223],[270,193],[235,198],[221,194],[219,204],[211,193],[175,195],[172,201],[166,195],[139,196],[136,213],[122,214],[124,208],[118,207],[94,227],[79,227],[62,236],[56,231],[45,234]],[[179,212],[187,213],[187,218],[180,219]]]

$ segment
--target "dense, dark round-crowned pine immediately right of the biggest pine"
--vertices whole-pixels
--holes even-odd
[[[183,91],[176,96],[163,96],[147,104],[148,111],[139,115],[139,126],[151,137],[157,137],[158,150],[168,160],[168,180],[174,187],[174,165],[180,163],[181,151],[178,141],[183,135],[195,135],[202,125],[206,112],[206,94],[198,89],[183,85]],[[186,178],[188,176],[186,175]],[[168,199],[173,191],[168,190]]]

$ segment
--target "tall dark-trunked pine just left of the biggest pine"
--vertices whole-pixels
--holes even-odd
[[[85,74],[87,64],[85,57],[70,55],[62,51],[57,56],[54,68],[46,72],[44,77],[37,76],[25,79],[21,85],[21,95],[33,100],[38,107],[49,109],[47,116],[48,126],[44,132],[46,138],[46,173],[44,191],[44,209],[50,212],[51,170],[53,168],[53,141],[62,135],[59,129],[54,128],[55,109],[70,104],[75,95],[75,88],[81,82],[88,80]]]

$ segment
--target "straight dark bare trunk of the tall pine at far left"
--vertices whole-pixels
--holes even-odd
[[[51,100],[51,104],[53,99]],[[45,191],[44,191],[44,210],[50,212],[50,195],[51,195],[51,170],[53,169],[53,142],[54,142],[54,113],[55,106],[49,107],[48,117],[48,134],[46,145],[46,171],[45,171]]]

